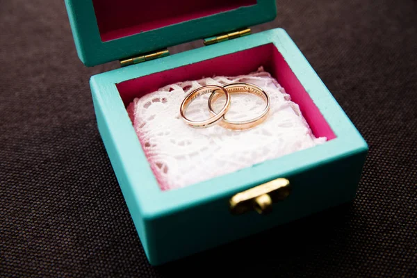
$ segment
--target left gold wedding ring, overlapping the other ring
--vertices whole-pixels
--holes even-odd
[[[204,121],[188,120],[188,118],[186,117],[186,109],[188,105],[190,105],[191,101],[193,101],[194,99],[202,95],[206,95],[208,93],[213,94],[215,92],[219,92],[218,93],[219,96],[221,95],[221,93],[223,93],[226,96],[226,103],[224,104],[222,110],[220,110],[219,113],[215,113],[213,117],[210,117]],[[193,92],[190,92],[186,96],[186,98],[183,100],[181,104],[179,113],[181,114],[181,117],[183,118],[184,122],[186,122],[186,124],[188,124],[189,126],[193,126],[195,128],[204,128],[204,127],[212,126],[213,124],[216,124],[218,121],[222,120],[224,114],[226,114],[227,111],[229,110],[229,107],[230,107],[230,95],[226,89],[217,85],[206,85],[196,90],[193,90]]]

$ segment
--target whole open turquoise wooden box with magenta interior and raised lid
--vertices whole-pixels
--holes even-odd
[[[272,0],[140,2],[65,1],[76,49],[85,65],[215,38],[277,15]],[[92,76],[90,86],[101,138],[152,265],[354,199],[368,146],[283,29],[231,38],[143,63],[129,65],[133,60],[126,61],[120,69]],[[300,105],[313,133],[326,136],[327,142],[193,186],[160,190],[126,112],[129,101],[176,81],[245,74],[260,65]],[[291,194],[274,202],[270,213],[232,213],[231,197],[277,178],[289,181]]]

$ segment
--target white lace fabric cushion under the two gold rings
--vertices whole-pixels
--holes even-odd
[[[183,122],[179,106],[189,92],[202,85],[234,82],[259,85],[270,95],[270,112],[262,124],[234,131],[218,124],[195,129]],[[190,120],[211,117],[208,97],[206,94],[195,99],[188,106],[186,117]],[[219,99],[214,109],[218,111],[221,107]],[[226,117],[247,120],[264,108],[265,101],[255,95],[231,95]],[[326,141],[313,136],[298,105],[263,67],[242,76],[215,76],[167,85],[134,99],[128,112],[161,190],[190,186]]]

